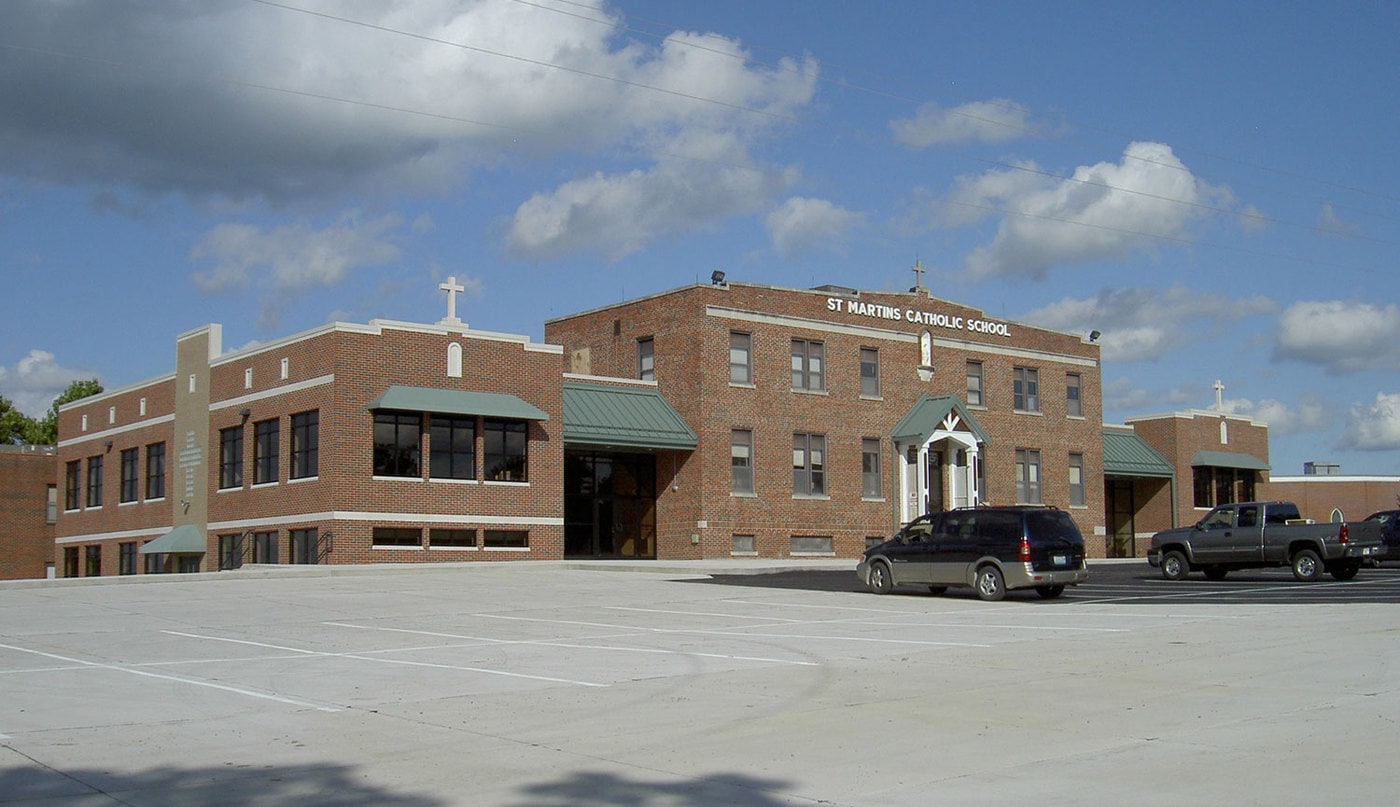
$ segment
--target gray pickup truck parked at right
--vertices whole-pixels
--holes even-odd
[[[1193,527],[1152,535],[1148,563],[1168,580],[1191,569],[1219,580],[1236,569],[1264,566],[1292,566],[1294,577],[1305,581],[1320,579],[1323,570],[1351,580],[1382,552],[1378,523],[1313,524],[1298,516],[1292,502],[1240,502],[1211,510]]]

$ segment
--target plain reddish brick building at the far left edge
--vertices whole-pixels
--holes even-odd
[[[49,576],[57,500],[53,448],[0,444],[0,580]]]

